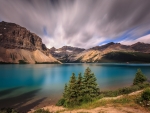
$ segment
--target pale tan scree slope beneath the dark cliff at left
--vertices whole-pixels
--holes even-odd
[[[0,47],[1,63],[59,63],[51,55],[46,56],[39,50],[5,49]]]

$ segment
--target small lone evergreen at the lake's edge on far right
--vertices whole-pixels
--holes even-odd
[[[138,69],[137,73],[135,75],[134,81],[133,81],[133,85],[142,84],[146,80],[147,80],[147,78],[144,76],[144,74],[142,73],[142,71],[140,69]]]

